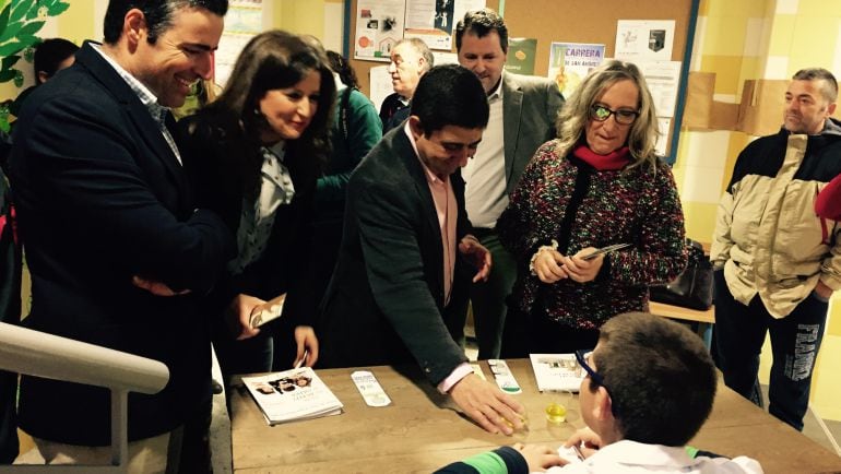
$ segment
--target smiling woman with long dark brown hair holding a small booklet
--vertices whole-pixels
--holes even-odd
[[[218,315],[213,344],[226,379],[318,358],[307,271],[334,99],[324,51],[269,31],[246,45],[216,100],[179,122],[199,205],[237,237],[228,277],[206,298]],[[283,318],[253,327],[280,311]]]

